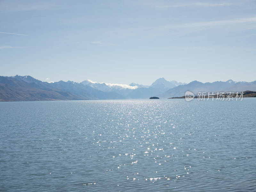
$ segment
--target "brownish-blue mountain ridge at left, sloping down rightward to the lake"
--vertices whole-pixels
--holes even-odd
[[[0,101],[124,99],[116,92],[103,92],[75,83],[42,82],[31,76],[0,76]]]

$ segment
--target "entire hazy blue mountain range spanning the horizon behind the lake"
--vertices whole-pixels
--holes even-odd
[[[179,83],[159,78],[150,86],[131,83],[110,84],[85,80],[42,82],[31,76],[0,76],[0,101],[36,101],[36,100],[104,100],[104,99],[148,99],[184,96],[186,91],[194,92],[242,92],[256,91],[254,82],[201,83],[198,81]]]

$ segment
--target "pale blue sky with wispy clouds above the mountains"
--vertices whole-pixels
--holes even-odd
[[[0,76],[256,80],[256,0],[1,0]]]

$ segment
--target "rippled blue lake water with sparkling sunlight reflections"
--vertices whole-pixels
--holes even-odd
[[[256,191],[255,98],[0,108],[0,191]]]

